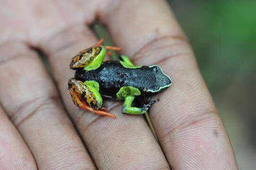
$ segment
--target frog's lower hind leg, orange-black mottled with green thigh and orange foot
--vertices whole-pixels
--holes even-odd
[[[83,83],[75,78],[71,78],[68,81],[68,90],[74,104],[79,108],[116,119],[115,115],[106,112],[105,109],[101,109],[102,97],[97,87],[94,87],[91,81]]]

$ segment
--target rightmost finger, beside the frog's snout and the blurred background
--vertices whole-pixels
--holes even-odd
[[[162,67],[173,84],[150,110],[174,170],[237,169],[234,153],[185,36],[163,0],[120,1],[99,14],[124,54]],[[228,168],[227,168],[228,167]]]

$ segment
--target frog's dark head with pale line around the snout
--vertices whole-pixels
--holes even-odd
[[[171,78],[162,72],[162,68],[157,65],[149,66],[155,75],[155,84],[151,89],[147,89],[147,92],[158,93],[168,88],[171,85]]]

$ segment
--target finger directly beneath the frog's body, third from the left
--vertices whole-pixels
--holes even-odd
[[[78,109],[67,90],[71,57],[95,44],[94,35],[83,25],[68,28],[42,43],[66,108],[77,125],[99,169],[169,169],[169,165],[145,120],[121,114],[120,102],[105,102],[116,119]],[[67,45],[68,44],[68,45]]]

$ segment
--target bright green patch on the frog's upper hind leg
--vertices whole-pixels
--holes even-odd
[[[101,66],[101,64],[106,56],[106,48],[104,46],[101,46],[101,47],[102,47],[102,50],[97,55],[97,57],[95,57],[95,59],[90,64],[88,64],[87,66],[84,67],[84,69],[86,71],[90,71],[90,70],[99,68]]]

